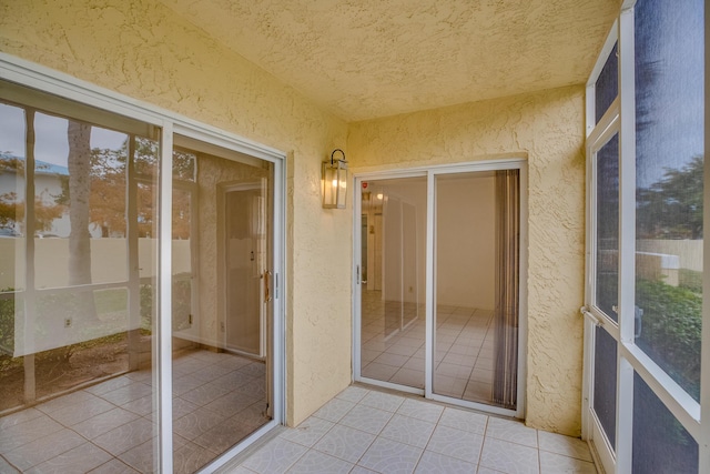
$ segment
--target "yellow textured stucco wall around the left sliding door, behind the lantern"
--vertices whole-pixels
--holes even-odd
[[[153,1],[3,1],[0,50],[286,151],[288,422],[349,383],[352,219],[320,201],[343,121]]]

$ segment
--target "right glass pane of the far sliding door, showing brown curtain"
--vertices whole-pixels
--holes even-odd
[[[518,171],[436,177],[435,393],[515,410]]]

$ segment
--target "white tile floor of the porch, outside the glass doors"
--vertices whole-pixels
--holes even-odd
[[[581,440],[361,385],[220,472],[597,473]]]

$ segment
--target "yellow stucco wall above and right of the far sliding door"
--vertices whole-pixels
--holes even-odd
[[[527,423],[579,435],[584,89],[570,87],[351,124],[352,168],[528,157]]]

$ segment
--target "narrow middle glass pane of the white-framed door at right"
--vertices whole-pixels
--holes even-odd
[[[594,304],[613,321],[619,288],[619,135],[597,152],[597,274]]]

